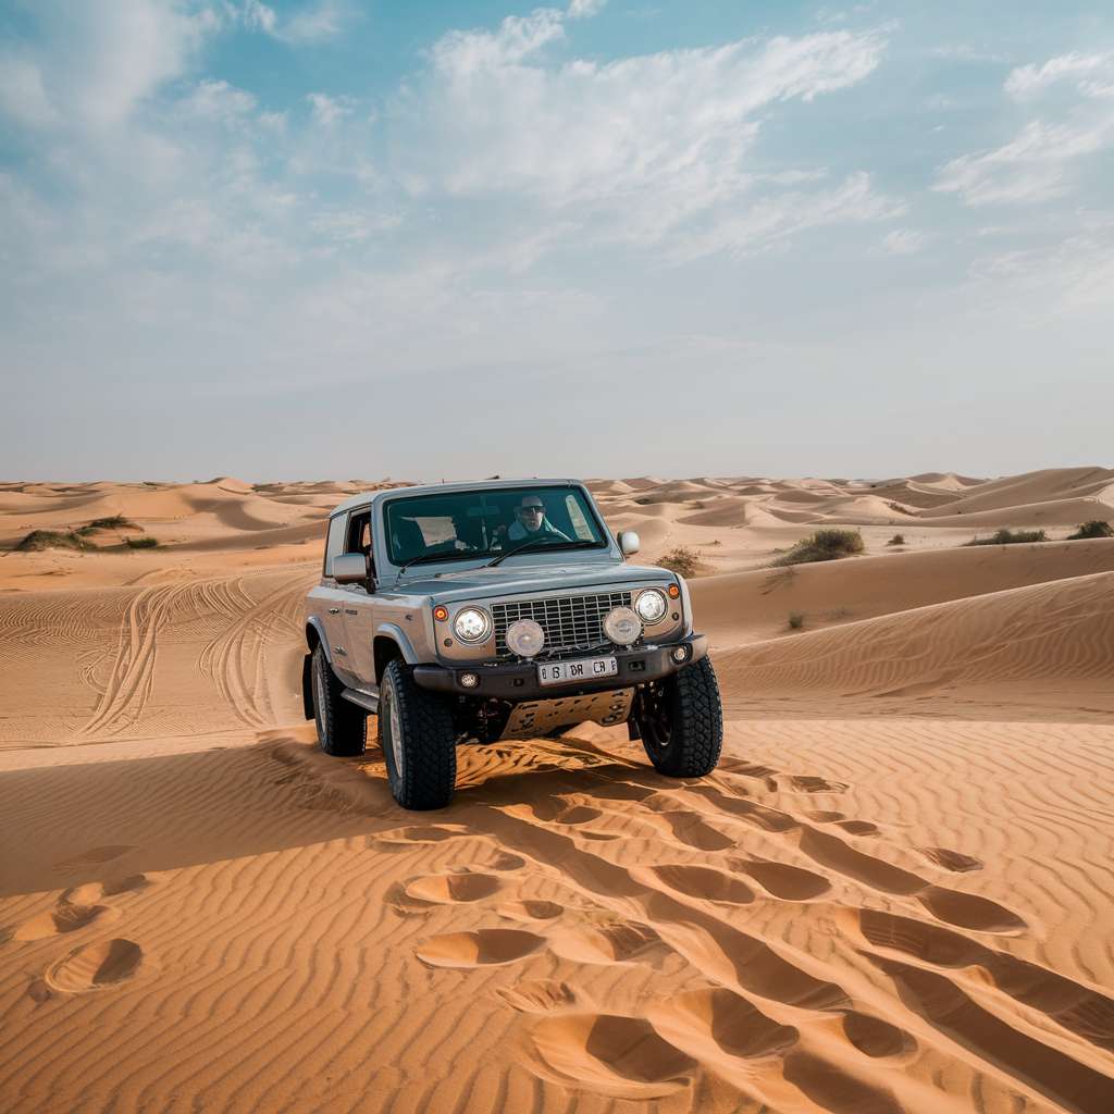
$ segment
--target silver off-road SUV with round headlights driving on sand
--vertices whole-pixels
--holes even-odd
[[[460,743],[626,723],[654,766],[700,778],[723,712],[684,580],[628,565],[584,485],[486,481],[355,496],[329,519],[305,602],[305,717],[362,754],[368,715],[394,799],[439,809]]]

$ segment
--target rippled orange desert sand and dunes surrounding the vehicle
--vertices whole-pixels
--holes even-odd
[[[585,726],[426,814],[301,714],[374,486],[0,485],[0,1110],[1114,1111],[1114,470],[594,481],[696,558],[720,769]]]

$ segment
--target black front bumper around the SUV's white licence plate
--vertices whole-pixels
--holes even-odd
[[[684,647],[683,661],[673,658],[673,651]],[[603,652],[602,652],[603,654]],[[607,692],[612,688],[629,688],[632,685],[659,681],[707,654],[707,636],[693,634],[666,645],[653,644],[633,649],[614,652],[618,673],[598,681],[569,681],[557,685],[538,683],[536,662],[477,663],[476,665],[416,665],[414,682],[422,688],[434,692],[455,693],[460,696],[486,696],[497,700],[522,701],[546,700],[551,696],[579,696],[583,693]],[[583,657],[602,656],[584,654]],[[610,656],[610,655],[608,655]],[[466,688],[460,683],[463,673],[475,673],[479,684]]]

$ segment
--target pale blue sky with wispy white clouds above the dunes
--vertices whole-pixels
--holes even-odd
[[[0,476],[1108,463],[1107,3],[0,2]]]

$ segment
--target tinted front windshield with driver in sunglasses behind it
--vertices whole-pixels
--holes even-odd
[[[496,557],[520,546],[526,555],[550,548],[605,549],[609,544],[576,487],[486,488],[392,499],[385,527],[394,565]]]

